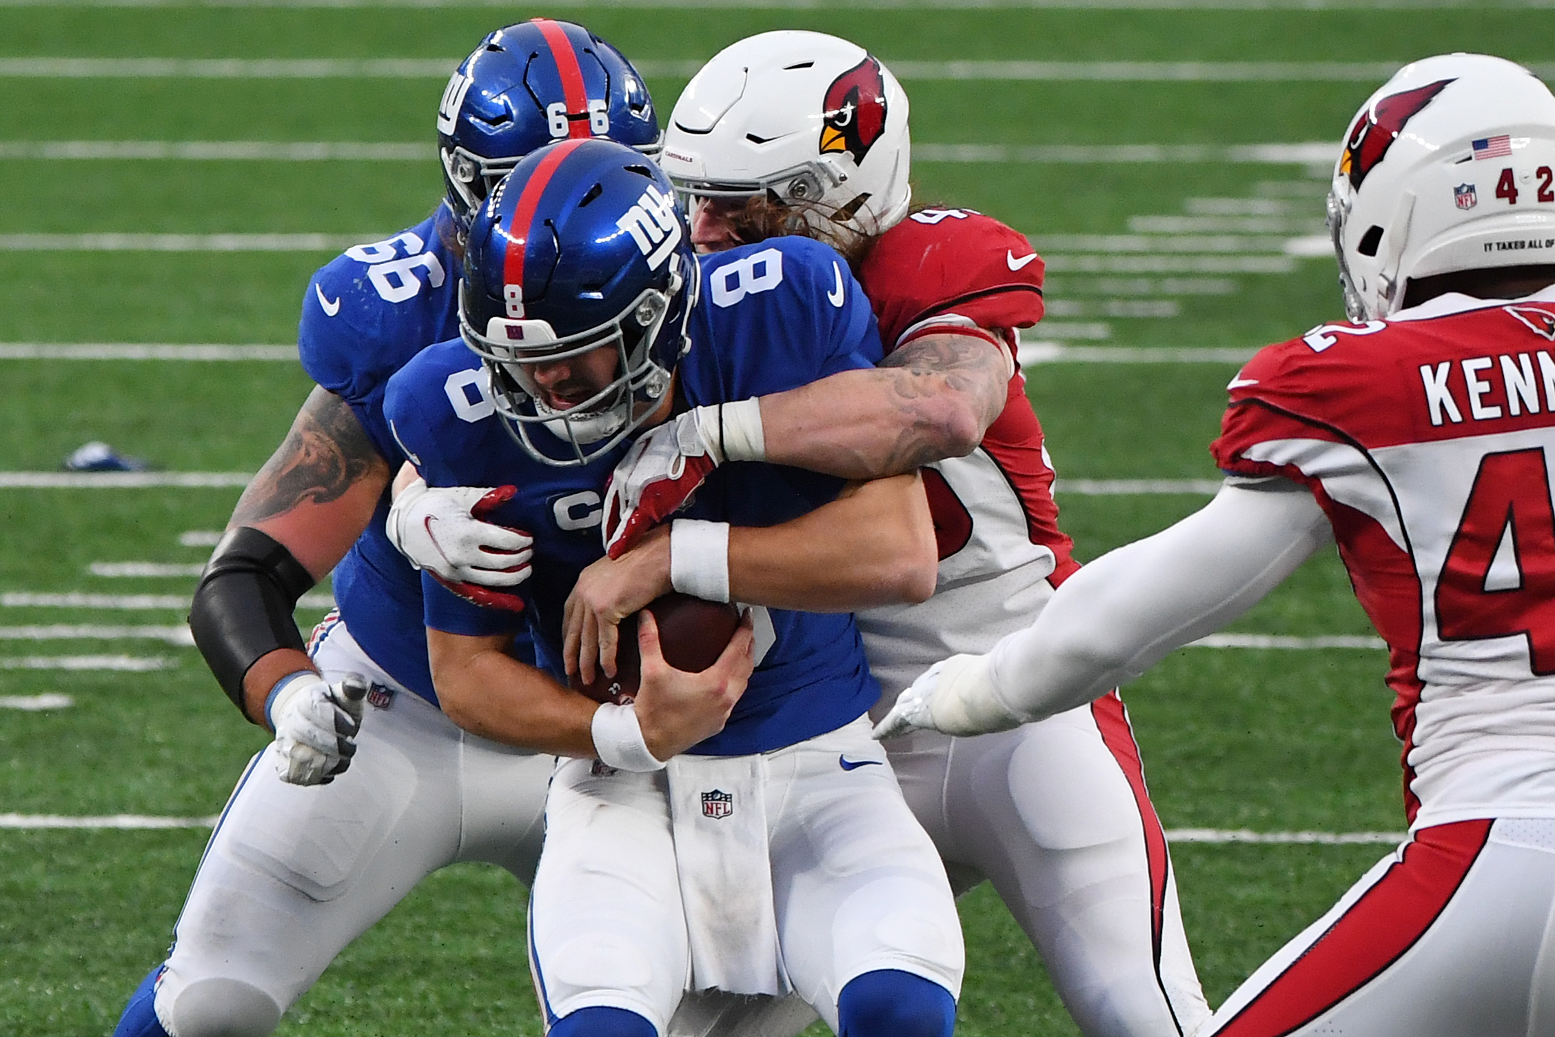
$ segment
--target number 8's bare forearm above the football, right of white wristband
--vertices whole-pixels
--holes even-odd
[[[810,613],[922,602],[938,553],[922,477],[877,479],[781,525],[729,530],[729,595]]]

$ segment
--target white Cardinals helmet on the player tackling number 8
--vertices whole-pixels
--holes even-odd
[[[725,47],[686,84],[659,165],[689,194],[765,196],[823,235],[880,233],[913,201],[907,95],[863,47],[762,33]]]

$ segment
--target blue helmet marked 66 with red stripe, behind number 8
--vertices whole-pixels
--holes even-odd
[[[437,106],[437,154],[459,229],[536,148],[610,137],[656,155],[662,134],[642,76],[582,25],[533,19],[501,28],[454,70]]]

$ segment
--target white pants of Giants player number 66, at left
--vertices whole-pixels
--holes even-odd
[[[325,679],[373,683],[351,766],[288,785],[274,743],[233,790],[174,931],[156,1011],[173,1037],[263,1037],[425,875],[488,861],[529,882],[554,757],[460,731],[327,619]]]

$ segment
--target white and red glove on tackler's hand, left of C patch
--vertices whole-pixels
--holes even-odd
[[[513,498],[513,487],[429,488],[417,479],[389,508],[386,532],[417,569],[448,583],[518,586],[529,578],[535,538],[484,521]]]

